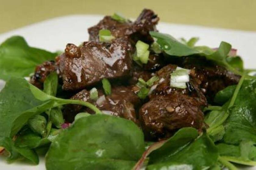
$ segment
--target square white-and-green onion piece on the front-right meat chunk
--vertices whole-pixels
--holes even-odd
[[[186,82],[189,81],[190,70],[177,67],[172,72],[170,78],[170,86],[185,89],[187,87]]]

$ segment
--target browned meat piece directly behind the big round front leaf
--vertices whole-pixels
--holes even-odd
[[[99,97],[102,99],[104,95],[101,90],[98,90]],[[104,114],[115,115],[123,117],[134,121],[138,124],[136,118],[135,107],[140,105],[140,99],[134,94],[130,88],[119,86],[112,88],[112,94],[105,96],[105,100],[98,99],[97,101],[92,101],[90,99],[90,92],[87,90],[82,90],[73,97],[73,100],[83,100],[95,104]],[[103,97],[104,99],[104,97]],[[80,105],[67,105],[63,111],[65,120],[68,122],[73,122],[74,117],[79,112],[88,112],[93,114],[93,112]]]

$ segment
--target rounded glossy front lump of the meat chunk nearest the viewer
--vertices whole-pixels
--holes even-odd
[[[180,92],[158,95],[140,108],[140,123],[148,139],[168,138],[182,127],[200,130],[203,120],[200,103]]]

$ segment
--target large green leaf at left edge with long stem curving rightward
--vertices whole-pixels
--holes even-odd
[[[13,77],[0,92],[0,136],[12,138],[29,118],[64,104],[80,104],[101,113],[91,103],[56,98],[45,94],[23,78]]]

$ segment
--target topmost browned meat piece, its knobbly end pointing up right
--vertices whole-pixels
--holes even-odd
[[[137,42],[139,39],[151,42],[149,31],[156,31],[155,25],[158,20],[157,15],[150,9],[144,9],[135,22],[120,23],[112,19],[111,16],[105,16],[97,25],[88,29],[89,40],[99,41],[99,30],[108,29],[116,38],[129,36],[133,42]]]

